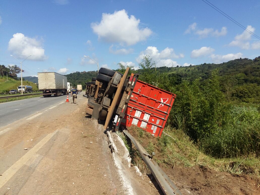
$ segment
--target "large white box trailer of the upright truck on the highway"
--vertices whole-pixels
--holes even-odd
[[[67,77],[55,72],[38,73],[39,90],[43,97],[67,94]]]

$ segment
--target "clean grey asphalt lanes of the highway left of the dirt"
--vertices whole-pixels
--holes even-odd
[[[79,94],[83,94],[81,92]],[[69,99],[70,99],[69,95]],[[40,110],[49,109],[59,103],[65,102],[67,95],[59,97],[34,97],[24,100],[6,102],[0,104],[0,128],[12,122],[37,114]],[[72,100],[70,100],[72,102]]]

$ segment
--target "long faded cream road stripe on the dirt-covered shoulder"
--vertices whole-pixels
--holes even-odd
[[[6,170],[2,176],[0,177],[0,188],[3,187],[6,182],[14,176],[14,174],[29,160],[31,159],[36,152],[41,149],[44,144],[46,144],[47,141],[52,138],[58,130],[54,131],[53,133],[49,133],[46,135],[45,138],[43,138],[38,144],[36,144],[33,148],[31,148],[26,154],[24,154],[18,161],[15,162],[8,170]]]

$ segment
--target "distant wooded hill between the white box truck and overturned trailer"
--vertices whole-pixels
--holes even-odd
[[[85,89],[85,82],[91,81],[92,77],[96,77],[97,71],[75,72],[64,76],[67,76],[68,82],[72,83],[73,87],[76,87],[78,84],[82,84],[82,89]]]

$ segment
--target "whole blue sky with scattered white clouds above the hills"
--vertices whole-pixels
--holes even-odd
[[[260,36],[259,0],[209,0]],[[150,55],[159,66],[222,63],[260,56],[260,40],[202,0],[11,1],[0,3],[0,64],[23,62],[23,76],[138,68]],[[51,69],[50,69],[51,68]]]

